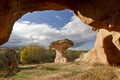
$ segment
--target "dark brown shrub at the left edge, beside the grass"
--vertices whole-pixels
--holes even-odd
[[[18,70],[19,55],[15,49],[5,49],[0,52],[0,77],[15,74]]]

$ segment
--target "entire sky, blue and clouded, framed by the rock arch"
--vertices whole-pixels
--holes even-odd
[[[15,22],[9,41],[2,46],[21,47],[37,43],[48,48],[53,41],[70,39],[74,42],[70,49],[83,50],[91,49],[95,38],[96,32],[83,24],[71,10],[34,11]]]

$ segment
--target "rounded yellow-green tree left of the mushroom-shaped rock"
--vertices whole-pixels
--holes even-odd
[[[20,52],[20,62],[22,64],[40,63],[46,49],[37,44],[29,44]]]

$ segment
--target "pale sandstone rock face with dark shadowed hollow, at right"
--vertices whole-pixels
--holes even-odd
[[[96,43],[83,60],[89,62],[100,62],[103,64],[120,64],[120,33],[109,32],[100,29],[97,33]]]

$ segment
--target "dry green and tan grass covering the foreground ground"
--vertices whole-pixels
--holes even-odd
[[[19,66],[15,75],[0,80],[120,80],[120,68],[86,62]]]

